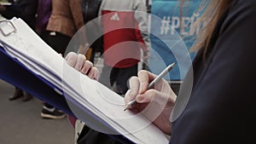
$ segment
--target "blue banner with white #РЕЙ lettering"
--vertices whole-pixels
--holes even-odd
[[[151,6],[149,68],[158,74],[166,65],[176,62],[177,65],[166,76],[171,81],[183,80],[188,72],[195,57],[189,49],[199,32],[199,27],[191,28],[200,16],[194,13],[199,1],[185,3],[182,15],[179,6],[180,3],[170,0],[153,0]]]

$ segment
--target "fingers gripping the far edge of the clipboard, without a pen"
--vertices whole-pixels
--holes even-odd
[[[89,78],[98,80],[99,70],[93,66],[90,60],[86,60],[85,56],[82,54],[76,54],[70,52],[65,57],[69,66],[73,66],[79,72],[82,72],[84,75],[87,75]]]

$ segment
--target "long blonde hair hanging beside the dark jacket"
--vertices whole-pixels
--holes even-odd
[[[181,0],[181,7],[183,8],[183,4],[188,2],[189,0]],[[191,50],[199,50],[204,48],[204,52],[207,52],[207,47],[209,46],[212,32],[217,25],[218,20],[221,15],[224,14],[224,11],[230,5],[231,0],[211,0],[210,2],[207,0],[201,1],[201,6],[197,10],[197,13],[201,13],[201,17],[196,20],[195,27],[204,23],[201,27],[201,31],[197,34],[195,44],[192,46]]]

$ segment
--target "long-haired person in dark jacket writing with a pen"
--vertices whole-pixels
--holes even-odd
[[[201,20],[208,23],[195,42],[199,51],[179,95],[166,80],[147,90],[155,75],[141,71],[131,78],[125,103],[136,98],[131,110],[137,112],[162,108],[144,114],[159,114],[152,121],[171,135],[172,144],[255,143],[256,1],[205,4]]]

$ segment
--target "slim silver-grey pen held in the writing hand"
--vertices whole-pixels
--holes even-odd
[[[170,71],[172,70],[172,67],[173,67],[174,65],[175,65],[175,62],[173,62],[171,65],[167,66],[166,69],[164,69],[164,71],[160,72],[160,74],[159,74],[156,78],[154,78],[154,80],[148,85],[148,89],[153,88],[153,87],[154,87],[154,84],[156,84],[161,78],[163,78],[163,77],[166,75],[167,72],[170,72]],[[132,107],[135,103],[136,103],[136,99],[130,101],[130,102],[126,105],[124,111],[125,111],[126,109]]]

